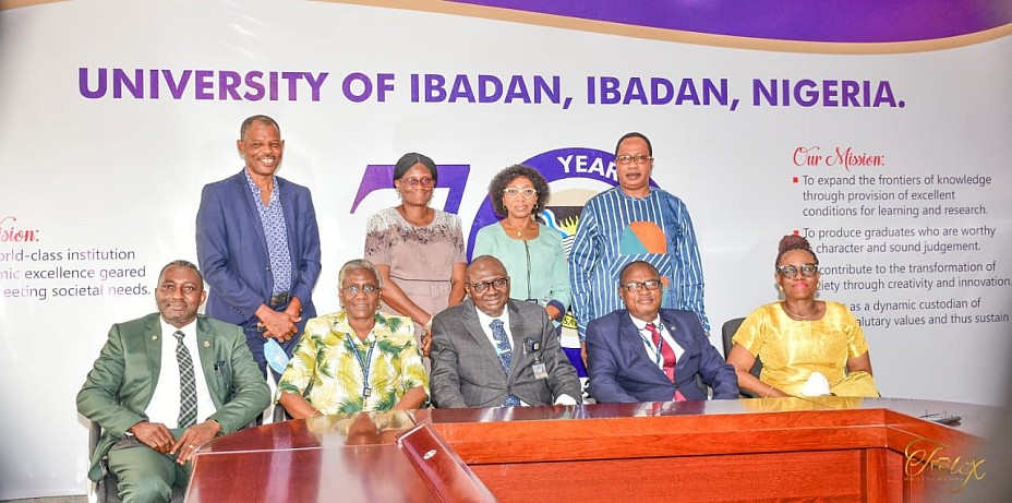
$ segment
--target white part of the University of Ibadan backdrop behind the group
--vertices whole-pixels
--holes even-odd
[[[1004,396],[1008,32],[846,55],[498,10],[180,3],[0,11],[0,499],[84,491],[74,396],[109,326],[155,311],[159,268],[195,260],[201,188],[240,170],[253,113],[281,125],[280,176],[313,191],[320,312],[338,309],[337,268],[361,256],[369,215],[397,204],[389,185],[363,189],[369,166],[418,151],[461,167],[433,205],[468,233],[498,169],[583,153],[556,157],[552,182],[579,203],[638,130],[654,181],[691,211],[714,334],[776,299],[775,245],[798,231],[821,247],[823,298],[865,325],[884,395]]]

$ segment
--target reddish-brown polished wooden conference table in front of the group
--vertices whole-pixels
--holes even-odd
[[[921,501],[981,483],[1000,414],[821,397],[317,417],[205,444],[186,501]]]

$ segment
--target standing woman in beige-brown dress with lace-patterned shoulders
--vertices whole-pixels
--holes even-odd
[[[438,176],[427,156],[401,156],[394,166],[401,204],[371,216],[365,235],[365,260],[383,276],[383,310],[419,325],[419,347],[425,355],[429,323],[463,299],[467,268],[460,217],[429,206]]]

